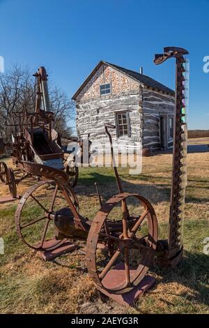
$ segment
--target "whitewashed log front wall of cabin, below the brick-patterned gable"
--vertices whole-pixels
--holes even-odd
[[[76,123],[79,137],[85,137],[89,133],[91,140],[104,142],[104,124],[116,125],[116,113],[127,112],[130,137],[125,135],[118,138],[116,130],[113,130],[113,140],[121,144],[127,144],[128,141],[142,142],[143,114],[140,111],[139,100],[139,90],[136,90],[77,103]]]

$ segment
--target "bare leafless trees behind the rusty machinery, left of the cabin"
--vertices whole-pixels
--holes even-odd
[[[75,117],[74,104],[70,97],[58,88],[50,89],[49,99],[54,112],[54,128],[63,137],[70,137],[70,119]],[[28,68],[13,66],[6,74],[0,75],[0,137],[10,141],[12,128],[18,124],[18,113],[33,112],[36,91],[34,79]]]

